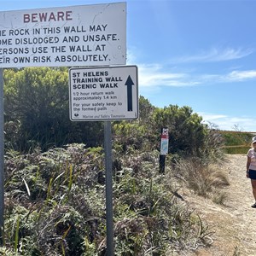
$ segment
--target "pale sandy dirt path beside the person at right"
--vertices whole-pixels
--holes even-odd
[[[256,255],[256,209],[250,180],[245,177],[247,156],[227,155],[223,166],[230,178],[224,206],[201,197],[193,197],[191,204],[207,220],[213,243],[189,255],[200,256],[255,256]]]

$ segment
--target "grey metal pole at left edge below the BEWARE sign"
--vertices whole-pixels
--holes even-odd
[[[3,137],[3,68],[0,68],[0,242],[3,245],[4,212],[4,137]]]

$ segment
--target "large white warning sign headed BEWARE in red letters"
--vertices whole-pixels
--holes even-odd
[[[125,63],[126,3],[0,12],[0,68]]]

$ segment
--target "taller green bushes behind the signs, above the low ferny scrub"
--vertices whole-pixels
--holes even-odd
[[[103,122],[69,119],[67,67],[5,69],[3,84],[5,148],[28,152],[70,143],[102,146]],[[206,154],[209,145],[221,143],[216,133],[212,134],[207,125],[202,124],[201,116],[188,106],[170,104],[157,108],[140,96],[139,112],[137,120],[112,122],[113,138],[122,150],[129,146],[158,148],[163,127],[169,129],[172,154],[198,156]]]

